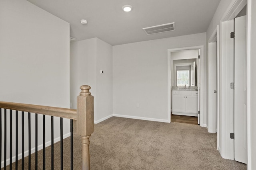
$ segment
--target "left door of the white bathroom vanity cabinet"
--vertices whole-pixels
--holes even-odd
[[[173,112],[186,111],[186,98],[184,95],[172,95],[172,111]]]

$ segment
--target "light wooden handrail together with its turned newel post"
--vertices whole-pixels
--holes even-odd
[[[39,106],[12,102],[0,102],[0,109],[10,109],[28,113],[38,113],[54,117],[76,120],[76,131],[82,139],[82,170],[90,170],[89,138],[94,131],[94,97],[89,92],[90,86],[83,85],[77,96],[77,109]],[[1,116],[1,115],[0,115]],[[2,129],[2,122],[1,122]],[[6,135],[6,134],[5,134]]]

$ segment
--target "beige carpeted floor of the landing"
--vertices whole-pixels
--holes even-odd
[[[66,170],[70,169],[69,140],[64,140]],[[60,169],[59,145],[54,145],[56,170]],[[91,170],[246,170],[246,164],[221,158],[216,146],[217,135],[199,125],[111,117],[94,126],[90,137],[90,166]],[[80,137],[75,134],[75,170],[80,169],[80,148]],[[46,169],[50,169],[50,149],[46,148]],[[32,169],[33,158],[34,155]],[[38,166],[42,167],[41,160]]]

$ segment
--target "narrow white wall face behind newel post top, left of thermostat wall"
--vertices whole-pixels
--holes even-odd
[[[73,109],[76,109],[76,97],[82,85],[91,86],[90,92],[96,96],[96,38],[70,43],[70,103]]]

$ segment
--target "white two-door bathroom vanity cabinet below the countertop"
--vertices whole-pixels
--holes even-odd
[[[172,114],[197,116],[198,91],[172,90]]]

